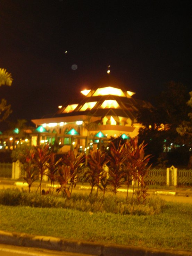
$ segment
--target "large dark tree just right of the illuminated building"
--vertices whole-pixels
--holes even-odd
[[[181,135],[176,132],[176,127],[187,118],[189,107],[185,102],[188,98],[183,84],[169,82],[154,100],[154,107],[139,109],[137,120],[143,124],[139,131],[139,143],[143,140],[147,143],[147,154],[154,156],[150,162],[166,160],[164,150],[170,148],[170,144],[185,144]],[[162,154],[165,156],[162,157]]]

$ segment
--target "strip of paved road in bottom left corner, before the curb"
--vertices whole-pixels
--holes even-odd
[[[1,256],[93,256],[88,254],[67,253],[61,251],[47,250],[41,248],[22,247],[0,244]]]

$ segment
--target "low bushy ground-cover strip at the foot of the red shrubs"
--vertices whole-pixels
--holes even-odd
[[[106,195],[103,199],[102,195],[99,195],[92,200],[86,194],[74,193],[70,200],[67,200],[50,194],[43,196],[33,191],[29,194],[19,189],[0,190],[0,204],[68,208],[83,212],[107,212],[121,215],[154,215],[162,213],[165,209],[165,201],[159,198],[149,198],[141,205],[136,199],[129,199],[127,203],[125,197],[120,196],[114,198],[111,195]]]

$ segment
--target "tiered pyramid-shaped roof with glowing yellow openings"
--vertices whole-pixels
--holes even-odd
[[[134,94],[121,85],[94,86],[92,89],[82,90],[80,99],[74,99],[58,106],[59,110],[53,117],[89,114],[102,118],[112,115],[130,118],[136,122],[139,107],[150,107],[151,105],[143,100],[133,98]]]

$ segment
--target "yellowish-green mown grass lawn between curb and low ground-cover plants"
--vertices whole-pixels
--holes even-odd
[[[0,229],[66,239],[192,251],[192,205],[166,203],[163,213],[120,215],[0,205]]]

